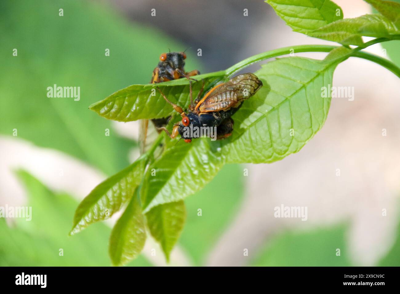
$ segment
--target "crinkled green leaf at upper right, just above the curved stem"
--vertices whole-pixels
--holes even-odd
[[[394,23],[386,17],[379,14],[366,14],[356,18],[337,20],[309,32],[309,35],[343,45],[363,46],[362,36],[390,38],[391,34],[399,33]]]

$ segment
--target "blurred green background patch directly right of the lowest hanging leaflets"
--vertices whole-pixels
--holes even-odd
[[[179,243],[195,265],[205,265],[208,252],[238,212],[243,178],[240,164],[227,164],[202,190],[185,199],[187,220]]]

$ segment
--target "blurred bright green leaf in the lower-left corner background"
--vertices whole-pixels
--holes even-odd
[[[50,191],[32,175],[18,171],[29,195],[32,220],[16,218],[8,227],[0,219],[0,266],[109,266],[107,252],[111,228],[104,223],[70,237],[71,215],[78,202],[67,194]],[[60,256],[60,250],[62,255]],[[132,266],[150,266],[142,256]]]

